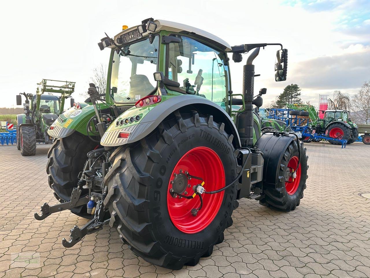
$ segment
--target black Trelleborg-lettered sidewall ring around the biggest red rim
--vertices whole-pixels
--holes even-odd
[[[182,248],[182,256],[193,256],[194,249],[204,252],[209,246],[215,244],[219,234],[226,228],[233,211],[236,188],[233,185],[225,190],[219,212],[211,224],[198,233],[186,234],[175,227],[168,213],[167,192],[172,171],[186,152],[198,146],[205,146],[214,150],[221,159],[225,170],[226,183],[228,184],[236,178],[234,148],[228,143],[225,135],[221,134],[215,127],[209,128],[205,125],[188,127],[185,133],[178,130],[173,135],[173,140],[170,145],[166,145],[161,150],[162,159],[152,169],[152,173],[157,174],[154,174],[155,186],[148,187],[147,199],[150,202],[151,211],[149,220],[153,225],[155,238],[161,242],[161,246],[166,252],[177,254],[179,252],[178,248]],[[219,187],[222,186],[224,185]]]

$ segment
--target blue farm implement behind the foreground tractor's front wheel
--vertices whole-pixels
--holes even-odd
[[[347,140],[330,137],[323,133],[316,133],[314,127],[312,127],[312,121],[309,117],[309,112],[299,111],[295,109],[268,109],[267,118],[282,120],[287,126],[294,132],[302,133],[303,142],[319,142],[321,140],[337,142],[338,145],[342,145],[342,148],[346,148]]]

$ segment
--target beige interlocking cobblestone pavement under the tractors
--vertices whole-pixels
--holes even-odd
[[[273,211],[242,199],[225,241],[211,257],[179,271],[155,267],[123,245],[114,229],[65,249],[74,225],[67,211],[37,221],[43,202],[55,203],[45,165],[50,145],[23,157],[0,146],[0,278],[19,277],[369,277],[370,147],[306,144],[309,180],[295,211]]]

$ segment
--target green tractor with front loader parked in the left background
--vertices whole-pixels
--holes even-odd
[[[57,85],[50,85],[50,82]],[[20,93],[16,96],[17,105],[22,105],[21,95],[26,98],[24,113],[17,115],[17,149],[23,156],[35,155],[36,143],[53,143],[47,131],[63,112],[65,99],[74,92],[75,82],[43,79],[37,85],[36,95]],[[60,93],[61,96],[44,95],[45,92]],[[73,104],[71,98],[71,106]]]

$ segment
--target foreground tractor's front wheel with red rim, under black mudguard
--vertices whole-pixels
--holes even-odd
[[[300,160],[298,148],[301,152]],[[308,156],[306,155],[306,148],[303,148],[303,143],[298,146],[297,141],[293,140],[281,156],[279,163],[277,163],[280,166],[275,185],[271,183],[263,185],[263,193],[259,203],[282,211],[295,210],[296,206],[300,204],[300,199],[303,198],[303,191],[306,189],[306,179],[308,178],[307,159]],[[296,178],[293,180],[292,177],[287,177],[289,168],[296,170],[299,161],[300,165],[296,172]]]

